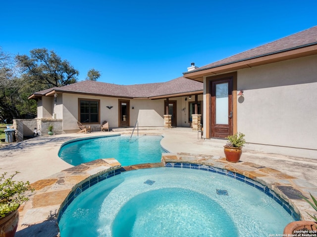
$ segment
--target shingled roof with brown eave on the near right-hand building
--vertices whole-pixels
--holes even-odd
[[[314,54],[317,54],[317,26],[183,74],[185,78],[202,81],[203,76]]]

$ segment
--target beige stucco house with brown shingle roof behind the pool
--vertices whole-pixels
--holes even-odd
[[[78,131],[77,121],[93,130],[100,130],[104,120],[112,128],[136,121],[143,127],[163,127],[164,115],[171,115],[170,126],[190,127],[192,114],[201,114],[203,83],[183,77],[134,85],[84,80],[35,92],[29,99],[38,102],[37,119],[60,121],[58,133]]]

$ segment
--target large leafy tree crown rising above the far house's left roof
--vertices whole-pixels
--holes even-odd
[[[67,60],[62,61],[53,50],[32,49],[30,57],[16,55],[15,58],[22,69],[22,78],[29,83],[44,85],[42,89],[69,85],[77,81],[79,72]]]

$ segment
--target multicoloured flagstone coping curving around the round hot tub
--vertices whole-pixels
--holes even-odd
[[[307,212],[312,213],[310,205],[304,199],[299,198],[298,195],[303,194],[309,197],[309,192],[316,192],[317,186],[307,183],[305,180],[252,162],[230,163],[225,158],[214,158],[208,155],[166,153],[162,154],[161,161],[161,163],[121,167],[121,164],[114,158],[98,159],[62,170],[46,179],[33,183],[32,187],[35,191],[30,196],[29,201],[20,209],[21,224],[16,237],[36,236],[37,233],[44,230],[46,237],[59,236],[58,213],[65,211],[68,202],[70,203],[74,196],[79,195],[79,193],[99,181],[112,177],[115,173],[119,174],[122,171],[141,168],[162,167],[168,164],[181,164],[181,166],[183,164],[198,164],[202,168],[212,166],[216,168],[215,170],[219,169],[219,173],[222,172],[221,170],[230,171],[221,173],[227,176],[243,175],[274,191],[300,215],[300,219],[311,220],[311,217],[307,214]],[[186,165],[182,167],[188,168]]]

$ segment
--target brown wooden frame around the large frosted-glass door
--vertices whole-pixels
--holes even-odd
[[[220,137],[212,137],[212,127],[213,124],[213,114],[212,114],[212,87],[211,84],[213,81],[220,81],[224,79],[232,79],[232,86],[231,86],[231,102],[232,102],[232,118],[231,118],[231,128],[230,133],[234,134],[237,132],[237,72],[217,75],[217,76],[210,76],[206,77],[206,138],[220,138]],[[229,91],[230,94],[230,91]],[[229,108],[230,109],[230,108]],[[229,135],[232,135],[229,134]],[[222,139],[222,138],[220,138]]]

